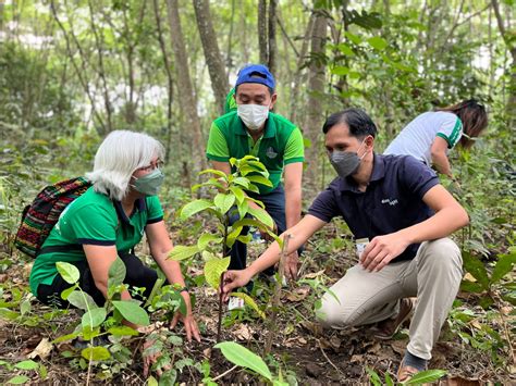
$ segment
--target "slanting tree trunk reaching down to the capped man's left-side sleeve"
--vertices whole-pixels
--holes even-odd
[[[197,98],[189,76],[188,60],[186,57],[183,29],[181,28],[177,0],[167,0],[167,11],[170,24],[170,38],[172,40],[172,49],[175,57],[177,89],[181,90],[179,102],[183,112],[182,115],[185,119],[184,130],[192,133],[194,170],[199,171],[200,169],[206,169],[205,141],[200,129],[199,115],[197,114]]]

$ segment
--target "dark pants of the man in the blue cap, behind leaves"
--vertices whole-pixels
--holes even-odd
[[[267,213],[270,214],[272,220],[274,220],[275,225],[278,226],[278,235],[281,235],[286,231],[286,219],[285,219],[285,190],[283,186],[279,185],[274,190],[268,195],[257,195],[248,192],[249,197],[260,200],[266,206]],[[232,211],[233,214],[230,217],[230,224],[238,221],[238,212]],[[245,226],[242,229],[241,235],[247,235],[249,227]],[[299,248],[298,253],[300,254],[303,248]],[[244,270],[246,267],[247,260],[247,245],[241,241],[235,241],[231,251],[231,263],[229,270]],[[274,267],[270,266],[263,271],[266,275],[273,275]]]

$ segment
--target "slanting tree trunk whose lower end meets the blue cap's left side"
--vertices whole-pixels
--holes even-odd
[[[230,89],[230,84],[225,75],[213,23],[211,22],[210,5],[208,0],[194,0],[194,8],[200,41],[202,42],[202,50],[205,51],[206,63],[210,73],[211,88],[213,89],[219,113],[223,114],[225,96]]]

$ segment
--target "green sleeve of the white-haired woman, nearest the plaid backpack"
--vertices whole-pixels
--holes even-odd
[[[105,208],[84,207],[64,226],[70,226],[78,244],[114,246],[118,221]]]

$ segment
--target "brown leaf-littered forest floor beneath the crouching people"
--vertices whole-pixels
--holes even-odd
[[[325,240],[327,237],[331,238],[331,235],[322,234],[322,237],[307,246],[303,258],[300,279],[295,284],[290,284],[287,288],[283,288],[281,310],[278,319],[273,321],[273,326],[270,320],[261,320],[253,310],[225,311],[222,340],[238,341],[261,356],[270,328],[275,328],[272,356],[268,358],[267,362],[274,374],[278,374],[281,369],[284,378],[295,377],[299,385],[368,384],[371,382],[368,369],[379,375],[381,383],[384,383],[385,373],[395,379],[397,365],[408,341],[406,328],[402,329],[392,340],[378,340],[368,326],[344,331],[322,331],[315,323],[314,302],[323,290],[323,287],[316,286],[315,283],[324,283],[324,286],[330,286],[353,264],[353,259],[342,250],[332,253],[331,259],[323,260],[322,254],[324,253],[321,253],[320,250],[328,250],[328,248],[320,248],[320,246],[329,242]],[[255,256],[253,247],[249,254]],[[193,266],[189,266],[188,270],[192,275],[199,273]],[[4,274],[0,275],[3,288],[19,288],[17,292],[12,290],[11,294],[4,289],[1,294],[4,304],[14,300],[15,297],[20,298],[20,292],[27,290],[28,273],[29,266],[27,264],[13,264]],[[265,307],[271,298],[272,287],[260,283],[259,279],[255,287],[258,288],[255,299],[259,307]],[[193,292],[197,298],[195,313],[202,340],[200,344],[185,343],[182,352],[185,357],[192,358],[194,362],[208,359],[211,366],[210,376],[214,378],[233,368],[233,364],[225,361],[218,350],[211,349],[216,344],[218,297],[214,290],[207,287],[193,288]],[[445,324],[439,343],[433,349],[433,358],[429,365],[430,369],[447,371],[447,376],[440,384],[516,384],[515,364],[511,363],[508,359],[512,337],[505,321],[500,317],[490,317],[489,311],[481,310],[477,306],[476,297],[471,295],[460,292],[457,299],[462,303],[456,310],[466,310],[467,313],[475,316],[468,320],[467,324],[462,324],[462,331],[475,336],[477,321],[478,328],[481,328],[480,325],[488,325],[503,337],[508,335],[508,343],[504,340],[505,345],[497,347],[487,336],[483,337],[484,340],[470,339],[468,344],[464,336],[460,337],[457,329],[454,329],[454,317],[449,317],[449,323]],[[87,369],[81,369],[77,361],[73,360],[78,357],[78,351],[72,347],[70,341],[54,344],[48,352],[32,356],[41,340],[51,341],[71,333],[79,321],[77,311],[54,314],[49,320],[48,316],[45,316],[49,314],[49,308],[40,306],[37,300],[32,300],[30,304],[32,308],[27,315],[32,315],[32,319],[27,316],[22,321],[9,322],[0,314],[0,364],[3,364],[0,365],[0,384],[16,374],[27,375],[30,378],[27,382],[29,384],[86,384]],[[514,310],[508,304],[504,304],[502,313],[508,319]],[[455,323],[459,323],[458,316]],[[181,326],[179,334],[183,336]],[[133,360],[127,365],[116,366],[113,362],[94,365],[90,382],[115,385],[146,384],[143,377],[142,354],[137,346],[138,338],[133,338],[130,344]],[[29,357],[35,357],[35,361],[45,365],[47,372],[45,381],[41,381],[40,373],[19,370],[7,364],[16,363]],[[97,376],[101,371],[105,374],[110,374],[108,379],[98,379]],[[185,366],[177,374],[176,382],[198,384],[201,379],[202,375],[198,370]],[[257,377],[237,368],[219,377],[217,382],[224,385],[248,384],[257,383]]]

